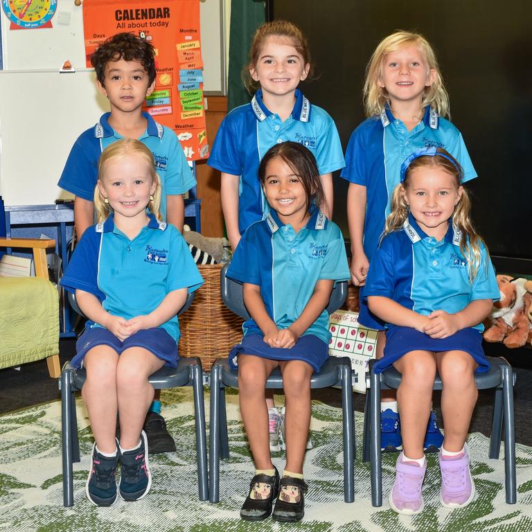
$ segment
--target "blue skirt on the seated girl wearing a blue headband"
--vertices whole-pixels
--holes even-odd
[[[384,369],[399,360],[402,355],[410,351],[465,351],[469,353],[479,367],[475,373],[485,373],[489,371],[490,364],[486,360],[482,349],[482,335],[474,328],[461,329],[454,335],[447,338],[431,338],[425,332],[420,332],[411,327],[390,327],[386,331],[386,346],[384,346],[384,357],[375,363],[375,372],[380,373]]]

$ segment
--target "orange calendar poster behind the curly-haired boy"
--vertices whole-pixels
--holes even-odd
[[[155,48],[155,89],[144,109],[177,134],[189,161],[209,157],[199,36],[199,0],[85,0],[87,67],[115,33],[130,31]]]

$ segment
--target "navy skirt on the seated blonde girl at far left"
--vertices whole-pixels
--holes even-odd
[[[78,338],[76,356],[71,360],[72,366],[80,368],[87,352],[96,346],[109,346],[118,355],[130,347],[143,347],[157,358],[164,360],[165,365],[171,368],[177,366],[177,360],[179,359],[175,339],[166,330],[159,327],[139,330],[134,335],[127,337],[123,342],[111,331],[103,327],[92,327],[85,329],[85,332]]]

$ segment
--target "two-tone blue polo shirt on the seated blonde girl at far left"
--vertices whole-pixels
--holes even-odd
[[[181,233],[153,215],[149,218],[133,240],[115,227],[113,215],[87,229],[61,285],[70,292],[94,294],[107,312],[125,319],[149,314],[174,290],[197,290],[203,279]],[[101,327],[94,321],[87,326]],[[177,316],[159,327],[177,342]]]

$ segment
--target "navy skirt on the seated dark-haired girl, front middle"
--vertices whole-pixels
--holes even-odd
[[[299,337],[294,347],[270,347],[263,335],[246,335],[242,342],[231,349],[229,366],[238,367],[238,354],[255,355],[269,360],[302,360],[310,364],[315,373],[319,373],[321,366],[329,357],[329,346],[314,335]]]

